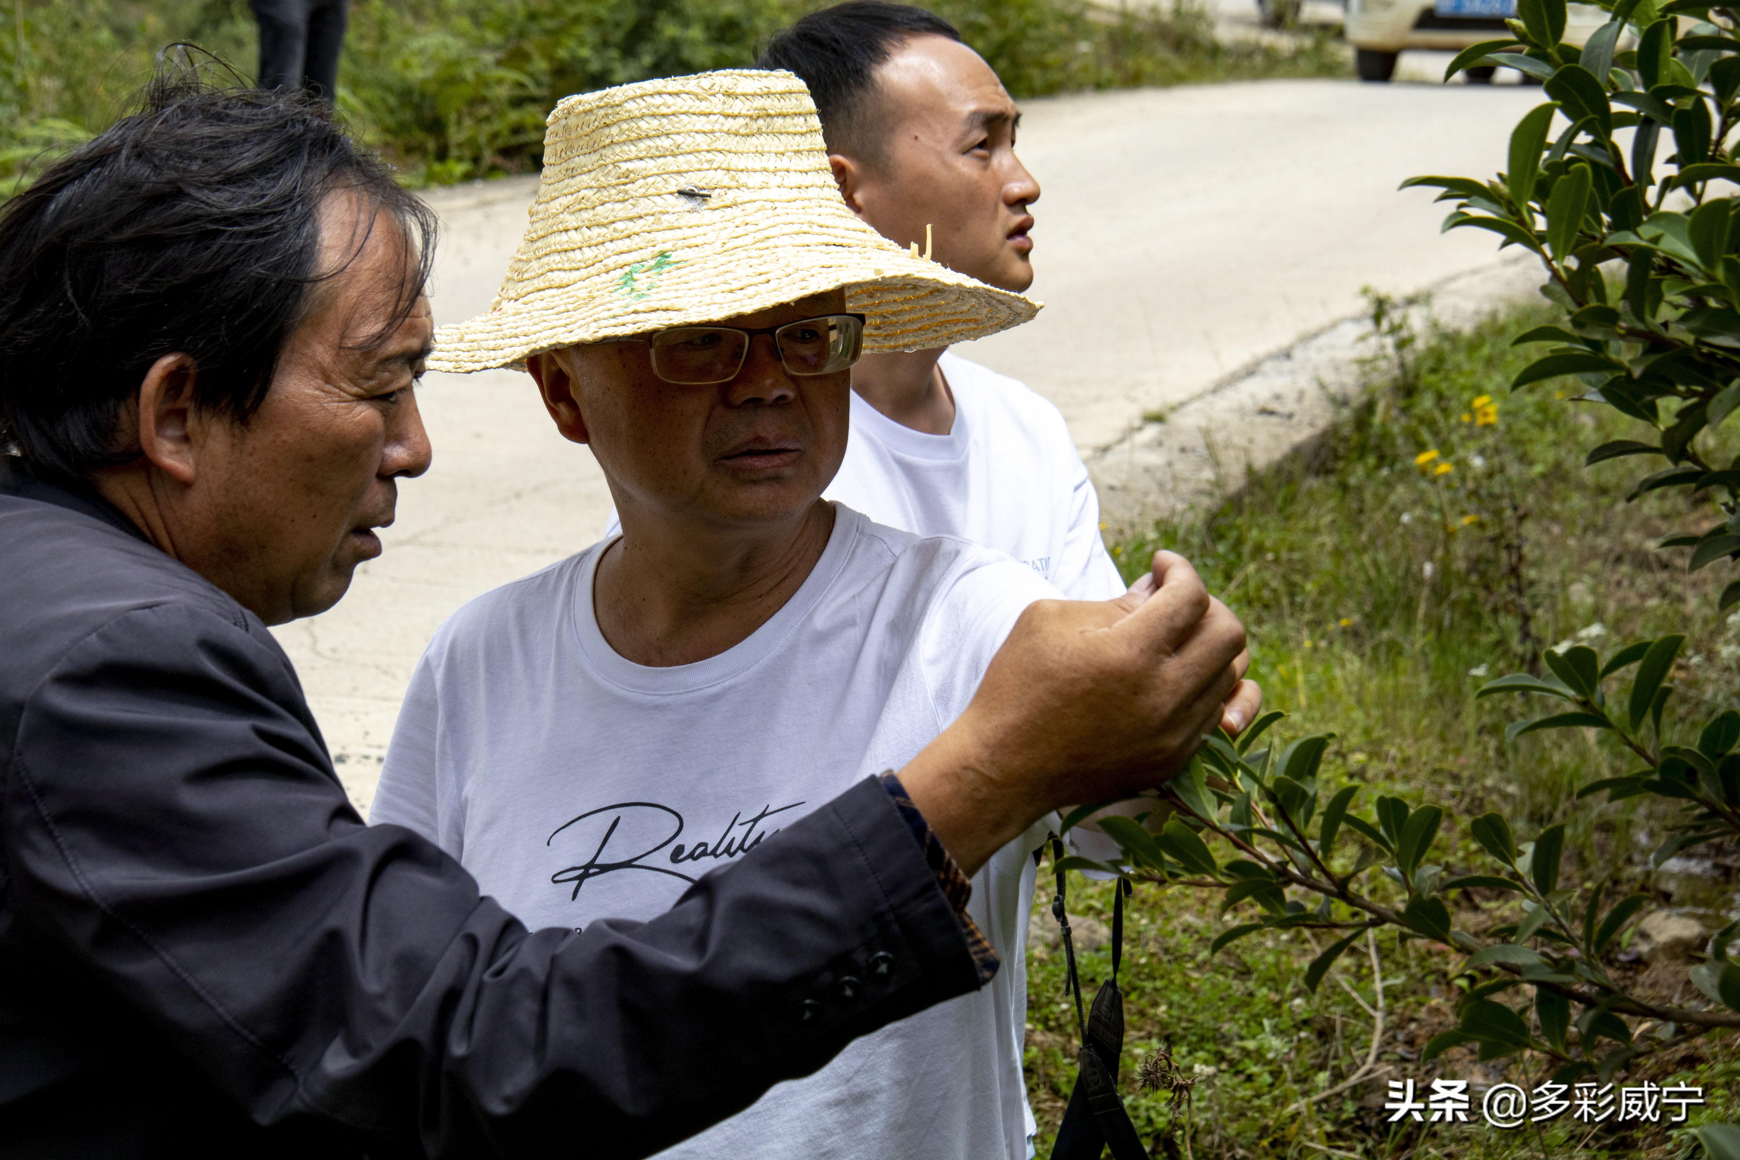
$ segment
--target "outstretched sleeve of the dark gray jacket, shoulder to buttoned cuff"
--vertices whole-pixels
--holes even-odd
[[[191,607],[71,649],[3,791],[28,918],[258,1122],[386,1151],[644,1157],[978,986],[875,779],[652,922],[527,932],[437,847],[362,824],[289,661]]]

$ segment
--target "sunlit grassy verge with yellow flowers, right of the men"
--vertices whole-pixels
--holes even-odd
[[[1335,730],[1328,781],[1357,781],[1376,793],[1422,795],[1472,817],[1503,812],[1519,831],[1568,823],[1566,880],[1650,889],[1648,856],[1663,837],[1650,798],[1616,805],[1576,802],[1575,788],[1630,772],[1610,743],[1589,730],[1535,734],[1503,744],[1507,715],[1526,706],[1476,703],[1482,675],[1524,668],[1542,647],[1569,637],[1604,650],[1625,638],[1684,631],[1684,661],[1672,675],[1684,720],[1705,720],[1740,689],[1740,614],[1717,616],[1723,567],[1686,576],[1684,553],[1656,553],[1655,539],[1702,527],[1707,501],[1656,492],[1623,503],[1643,471],[1623,461],[1583,468],[1608,438],[1636,437],[1606,407],[1556,398],[1547,383],[1509,395],[1528,362],[1510,336],[1550,318],[1524,308],[1467,334],[1406,325],[1368,365],[1369,388],[1315,443],[1281,466],[1237,480],[1211,511],[1162,523],[1117,544],[1134,572],[1155,548],[1183,551],[1209,586],[1244,617],[1253,675],[1268,704],[1295,715],[1300,732]],[[1563,395],[1563,391],[1557,391]],[[1489,397],[1479,402],[1481,397]],[[1496,410],[1491,407],[1496,405]],[[1482,421],[1488,419],[1488,421]],[[1735,433],[1728,435],[1735,442]],[[1730,445],[1731,456],[1740,447]],[[1437,452],[1430,456],[1427,452]],[[1423,459],[1422,459],[1423,456]],[[1441,470],[1449,464],[1449,470]],[[1234,489],[1228,489],[1234,490]],[[1684,739],[1681,739],[1684,741]],[[1449,835],[1456,873],[1488,871],[1467,833]],[[1072,913],[1108,920],[1110,890],[1072,882]],[[1042,903],[1049,892],[1041,890]],[[1658,896],[1660,897],[1660,896]],[[1249,904],[1244,904],[1249,906]],[[1129,911],[1121,981],[1128,991],[1124,1090],[1134,1064],[1169,1042],[1195,1073],[1192,1153],[1204,1157],[1677,1157],[1684,1144],[1663,1125],[1597,1127],[1569,1115],[1547,1130],[1502,1132],[1467,1125],[1389,1125],[1378,1104],[1385,1078],[1500,1078],[1533,1087],[1545,1077],[1516,1061],[1479,1063],[1472,1049],[1434,1064],[1415,1063],[1427,1038],[1453,1024],[1460,957],[1378,936],[1385,1031],[1376,1082],[1300,1106],[1340,1083],[1369,1050],[1373,970],[1348,953],[1317,995],[1303,988],[1314,957],[1305,939],[1258,936],[1208,955],[1213,936],[1244,906],[1216,913],[1218,896],[1138,887]],[[1039,923],[1051,927],[1044,917]],[[1463,915],[1484,929],[1500,922]],[[1074,1082],[1074,1012],[1061,1005],[1061,951],[1041,948],[1030,967],[1028,1090],[1041,1118],[1041,1155]],[[1107,977],[1107,951],[1086,958],[1086,986]],[[1643,963],[1625,967],[1651,986]],[[1340,983],[1338,983],[1340,977]],[[1662,972],[1658,983],[1684,986]],[[1342,986],[1359,991],[1361,1002]],[[1681,1002],[1695,1000],[1684,988]],[[1670,1057],[1651,1057],[1620,1083],[1702,1083],[1710,1101],[1691,1122],[1733,1118],[1735,1043],[1710,1037]],[[1141,1094],[1133,1115],[1154,1155],[1185,1155],[1183,1134],[1166,1136],[1168,1101]]]

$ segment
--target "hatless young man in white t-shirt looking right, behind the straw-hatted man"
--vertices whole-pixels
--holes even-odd
[[[865,223],[988,285],[1032,285],[1039,183],[1014,155],[1021,115],[954,26],[854,0],[778,33],[757,64],[809,85],[835,181]],[[865,355],[851,402],[830,499],[1004,551],[1077,600],[1124,590],[1100,539],[1100,499],[1051,402],[945,348]]]

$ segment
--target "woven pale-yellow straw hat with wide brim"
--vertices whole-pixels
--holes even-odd
[[[908,252],[840,200],[809,89],[731,70],[566,97],[525,238],[487,315],[442,327],[437,370],[719,322],[846,287],[865,350],[927,350],[1039,304]]]

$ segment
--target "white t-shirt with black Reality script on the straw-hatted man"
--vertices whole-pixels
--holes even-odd
[[[456,856],[531,927],[652,918],[687,885],[966,710],[1034,600],[1034,569],[835,504],[799,591],[745,642],[672,668],[618,656],[592,581],[604,544],[465,605],[418,664],[372,821]],[[609,543],[609,541],[606,541]],[[973,878],[1002,969],[847,1047],[665,1157],[1020,1160],[1025,932],[1054,819]]]

